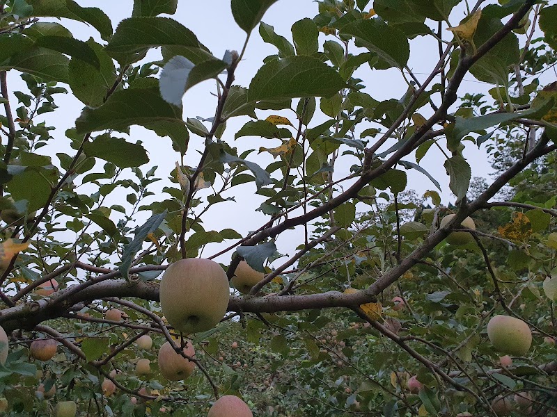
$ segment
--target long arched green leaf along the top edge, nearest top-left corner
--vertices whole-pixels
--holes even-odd
[[[33,6],[33,16],[65,17],[78,22],[91,24],[99,31],[102,39],[108,40],[112,35],[112,24],[100,8],[81,7],[73,0],[28,0]]]

